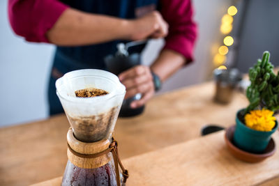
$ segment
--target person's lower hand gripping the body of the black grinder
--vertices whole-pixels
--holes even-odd
[[[119,75],[119,79],[123,85],[126,86],[126,98],[131,98],[137,93],[142,93],[142,98],[137,101],[133,101],[130,107],[137,108],[146,103],[152,98],[155,93],[153,77],[151,70],[148,66],[137,65],[134,68],[130,68],[122,72]]]

